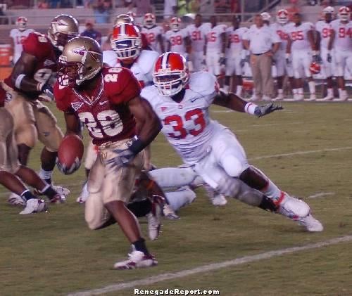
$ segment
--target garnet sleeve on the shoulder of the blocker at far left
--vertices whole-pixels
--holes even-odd
[[[28,35],[28,37],[23,40],[23,51],[35,56],[39,60],[50,56],[52,45],[49,39],[43,34],[33,32]]]

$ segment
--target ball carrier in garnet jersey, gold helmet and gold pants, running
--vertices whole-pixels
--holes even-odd
[[[99,146],[99,157],[89,173],[85,203],[89,229],[101,229],[117,221],[132,243],[129,259],[117,262],[115,269],[156,265],[126,202],[143,166],[141,152],[161,129],[158,117],[140,98],[139,82],[130,70],[103,67],[103,53],[95,40],[70,40],[59,63],[54,94],[58,109],[65,112],[67,134],[78,133],[80,120]]]

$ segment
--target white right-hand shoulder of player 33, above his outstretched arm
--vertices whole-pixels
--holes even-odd
[[[218,80],[209,72],[196,72],[189,77],[189,89],[204,96],[218,92]]]

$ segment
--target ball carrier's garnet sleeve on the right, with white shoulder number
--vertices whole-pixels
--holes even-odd
[[[141,93],[141,86],[132,72],[124,67],[115,82],[108,82],[109,99],[113,104],[127,103]],[[107,74],[109,75],[109,74]],[[107,80],[105,75],[105,81]]]

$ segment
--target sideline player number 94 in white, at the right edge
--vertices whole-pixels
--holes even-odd
[[[335,53],[335,76],[339,86],[339,98],[334,101],[346,101],[348,99],[345,89],[346,68],[352,73],[352,22],[350,19],[351,11],[348,7],[339,8],[339,19],[333,20],[331,39]]]

